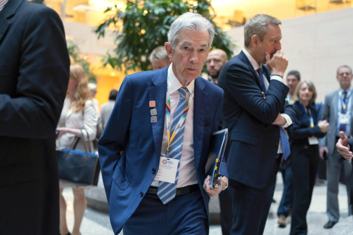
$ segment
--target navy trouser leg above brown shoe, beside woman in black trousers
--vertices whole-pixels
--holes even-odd
[[[288,211],[290,208],[292,208],[293,205],[293,175],[292,175],[292,167],[289,166],[286,169],[280,169],[282,172],[283,176],[283,193],[282,193],[282,199],[281,203],[278,207],[277,210],[277,215],[278,216],[288,216]]]

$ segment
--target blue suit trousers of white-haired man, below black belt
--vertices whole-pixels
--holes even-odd
[[[164,205],[146,193],[136,211],[122,227],[124,235],[200,235],[209,233],[200,191],[175,197]]]

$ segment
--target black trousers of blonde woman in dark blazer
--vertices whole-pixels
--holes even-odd
[[[319,165],[319,149],[318,145],[293,145],[291,151],[294,201],[290,235],[306,235],[306,213]]]

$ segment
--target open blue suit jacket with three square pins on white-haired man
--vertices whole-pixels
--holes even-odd
[[[113,112],[98,141],[110,222],[115,234],[121,231],[124,223],[136,210],[155,177],[155,171],[158,171],[164,130],[167,70],[168,68],[163,68],[125,77]],[[209,198],[202,185],[209,141],[218,128],[224,92],[198,77],[195,80],[194,95],[195,166],[208,214]],[[151,100],[156,102],[157,123],[150,121]],[[227,176],[225,163],[221,170],[221,174]]]

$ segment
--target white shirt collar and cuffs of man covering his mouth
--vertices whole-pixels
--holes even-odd
[[[256,60],[254,58],[252,58],[252,56],[250,55],[249,52],[247,52],[247,50],[245,48],[243,48],[242,50],[244,52],[244,54],[246,55],[247,59],[250,61],[252,67],[254,68],[254,70],[256,71],[257,73],[257,76],[259,76],[259,72],[258,72],[258,69],[261,67],[262,69],[262,65],[259,65]],[[263,71],[263,70],[262,70]],[[264,81],[264,84],[266,86],[266,90],[268,90],[268,87],[269,87],[269,82],[267,80],[267,78],[265,77],[265,74],[262,73],[262,79]],[[271,75],[271,78],[270,80],[272,79],[275,79],[281,83],[283,83],[283,78],[281,76],[278,76],[278,75]],[[285,113],[281,113],[281,116],[286,120],[286,123],[284,125],[282,125],[281,127],[282,128],[286,128],[290,125],[292,125],[293,121],[291,119],[291,117],[289,117],[287,114]],[[282,142],[281,142],[281,137],[280,137],[280,140],[279,140],[279,145],[278,145],[278,151],[277,153],[282,153]]]

